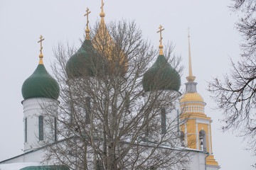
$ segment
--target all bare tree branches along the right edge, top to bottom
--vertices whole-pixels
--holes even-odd
[[[209,83],[208,90],[225,115],[223,130],[238,130],[256,154],[256,1],[233,1],[230,8],[241,16],[235,23],[244,40],[240,45],[241,58],[238,63],[231,60],[230,74],[225,74],[223,80],[215,78]]]

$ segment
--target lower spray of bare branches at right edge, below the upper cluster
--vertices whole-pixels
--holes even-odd
[[[216,78],[209,84],[209,91],[223,111],[223,130],[232,128],[249,140],[250,147],[256,153],[255,143],[255,63],[249,57],[234,64],[232,71],[224,80]]]

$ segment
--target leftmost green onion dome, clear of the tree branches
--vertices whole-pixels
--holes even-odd
[[[58,99],[60,86],[58,82],[48,74],[41,60],[33,74],[24,81],[21,91],[24,100],[28,98]]]

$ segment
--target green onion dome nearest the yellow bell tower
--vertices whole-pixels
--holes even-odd
[[[178,91],[181,87],[181,77],[167,62],[164,55],[160,54],[153,66],[145,72],[142,85],[144,91]]]

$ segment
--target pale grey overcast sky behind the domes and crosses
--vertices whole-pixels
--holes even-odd
[[[230,69],[230,58],[238,61],[241,38],[234,28],[238,16],[228,5],[231,0],[105,0],[105,21],[135,20],[144,38],[156,47],[161,24],[163,43],[173,42],[185,67],[182,89],[188,76],[187,28],[191,28],[193,74],[198,93],[206,101],[206,115],[213,119],[213,154],[223,170],[252,169],[255,157],[245,151],[246,141],[233,132],[221,132],[208,83]],[[67,42],[80,47],[84,35],[86,8],[90,8],[90,24],[100,19],[100,0],[0,0],[0,161],[23,153],[23,107],[21,86],[38,64],[40,35],[44,64],[48,72],[54,61],[53,47]],[[92,26],[91,25],[91,26]],[[157,56],[156,56],[157,57]]]

